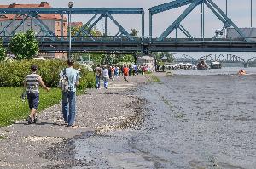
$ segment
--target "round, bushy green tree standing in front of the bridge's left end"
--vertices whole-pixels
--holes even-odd
[[[32,30],[20,32],[9,42],[9,50],[15,54],[15,59],[32,59],[39,51],[39,42]]]

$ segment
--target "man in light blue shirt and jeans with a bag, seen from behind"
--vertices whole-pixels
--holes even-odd
[[[76,89],[79,85],[79,70],[73,68],[72,59],[67,60],[68,68],[62,70],[60,76],[66,74],[68,79],[68,91],[62,91],[62,114],[67,127],[75,127],[76,116]]]

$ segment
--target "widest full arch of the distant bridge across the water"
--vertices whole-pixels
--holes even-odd
[[[200,59],[204,59],[206,62],[225,62],[225,63],[237,63],[241,62],[243,64],[247,63],[245,59],[240,56],[236,56],[235,54],[208,54],[206,56],[202,56]]]

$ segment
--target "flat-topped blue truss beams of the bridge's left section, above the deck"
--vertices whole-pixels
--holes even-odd
[[[0,8],[0,15],[3,14],[18,14],[18,15],[24,15],[26,16],[26,19],[29,17],[31,20],[38,23],[38,25],[41,28],[41,31],[44,32],[46,36],[53,36],[53,38],[56,38],[55,34],[50,31],[49,27],[44,24],[44,21],[40,20],[39,15],[40,14],[61,14],[62,16],[62,22],[63,22],[63,14],[100,14],[100,17],[93,23],[91,23],[95,16],[92,17],[79,31],[79,34],[84,35],[90,35],[90,30],[95,26],[100,20],[102,20],[102,17],[106,17],[106,26],[105,26],[105,32],[107,32],[107,17],[113,21],[114,25],[117,25],[119,28],[119,31],[124,35],[125,37],[129,37],[130,40],[132,40],[130,34],[128,31],[125,30],[125,28],[119,24],[117,20],[114,20],[113,14],[141,14],[142,15],[142,36],[144,36],[144,10],[143,8]],[[14,19],[15,20],[15,19]],[[25,20],[21,20],[20,23],[15,27],[15,29],[8,34],[8,36],[14,35],[15,31],[24,23]],[[7,25],[9,26],[9,25]],[[103,26],[103,25],[102,25]],[[88,28],[88,29],[86,29]],[[63,36],[63,24],[61,24],[61,34]],[[6,35],[6,27],[3,28],[3,30],[0,31],[3,33],[3,35]],[[103,34],[103,32],[102,32]],[[0,34],[1,35],[1,34]]]

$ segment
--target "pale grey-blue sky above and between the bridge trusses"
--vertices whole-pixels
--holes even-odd
[[[0,0],[0,4],[16,3],[40,3],[41,1],[47,1],[52,7],[64,8],[67,7],[67,3],[71,0]],[[148,8],[160,5],[162,3],[169,3],[172,0],[73,0],[74,8],[143,8],[145,12],[145,36],[148,36]],[[221,8],[224,13],[226,10],[225,0],[212,0]],[[232,21],[238,27],[251,27],[250,18],[250,2],[251,0],[228,0],[231,1],[231,10],[228,14],[231,14]],[[253,27],[256,27],[256,0],[253,1]],[[229,6],[229,4],[228,4]],[[153,16],[153,37],[159,37],[160,34],[166,30],[166,28],[172,24],[177,17],[182,14],[186,8],[176,8],[172,11],[166,11],[160,14],[154,14]],[[72,21],[81,21],[86,23],[92,15],[73,15]],[[135,28],[140,31],[141,35],[141,16],[140,15],[114,15],[115,20],[119,21],[126,31],[130,32],[131,28]],[[192,37],[200,37],[200,6],[195,8],[182,22]],[[100,25],[96,25],[98,29],[101,29]],[[216,29],[221,29],[223,24],[207,7],[205,8],[205,37],[213,37]],[[113,22],[108,21],[108,35],[115,35],[118,32],[117,27]],[[174,32],[169,37],[174,37]],[[185,37],[180,34],[179,37]],[[255,56],[255,53],[251,53]],[[250,54],[250,55],[251,55]]]

